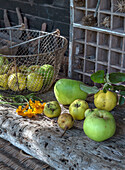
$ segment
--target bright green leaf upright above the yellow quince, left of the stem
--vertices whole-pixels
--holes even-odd
[[[91,75],[91,80],[95,83],[104,83],[105,82],[104,77],[105,77],[104,70],[99,70]]]

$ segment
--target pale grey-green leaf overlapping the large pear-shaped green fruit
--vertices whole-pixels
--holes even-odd
[[[88,94],[95,94],[99,91],[99,89],[96,86],[89,87],[84,84],[80,84],[80,89]]]

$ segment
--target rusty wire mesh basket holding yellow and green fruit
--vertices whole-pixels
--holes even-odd
[[[0,29],[0,91],[45,92],[54,83],[67,39],[59,30],[43,32],[21,26]]]

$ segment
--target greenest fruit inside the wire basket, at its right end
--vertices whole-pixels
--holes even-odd
[[[41,74],[44,79],[43,85],[50,85],[54,76],[54,67],[49,64],[44,64],[38,69],[38,73]]]

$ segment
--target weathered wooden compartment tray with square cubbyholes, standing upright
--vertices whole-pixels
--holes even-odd
[[[98,70],[125,73],[125,13],[118,1],[101,1],[97,25],[86,26],[83,17],[95,12],[97,0],[70,0],[68,76],[92,85]]]

